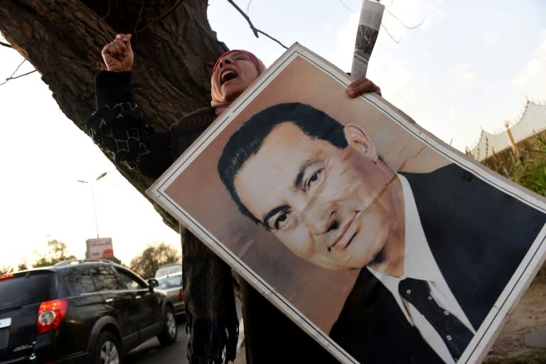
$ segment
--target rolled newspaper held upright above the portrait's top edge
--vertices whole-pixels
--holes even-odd
[[[385,6],[376,1],[362,1],[360,21],[358,21],[358,30],[356,31],[353,66],[350,70],[350,76],[353,79],[366,75],[370,55],[372,55],[373,46],[378,39],[384,10]]]

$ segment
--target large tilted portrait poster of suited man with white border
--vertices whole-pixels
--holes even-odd
[[[149,196],[342,363],[477,363],[546,201],[350,82],[292,45]]]

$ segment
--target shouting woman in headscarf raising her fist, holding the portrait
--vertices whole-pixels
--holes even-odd
[[[131,35],[118,34],[102,48],[107,71],[97,74],[97,111],[87,121],[90,136],[116,163],[158,178],[233,102],[265,66],[246,50],[218,58],[210,78],[210,106],[186,115],[169,132],[156,132],[131,92],[134,55]],[[380,89],[366,78],[352,82],[348,95]],[[122,145],[123,147],[119,147]],[[235,360],[238,321],[230,267],[181,227],[183,289],[188,318],[190,363]],[[238,279],[245,326],[247,363],[336,363],[327,350],[242,279]]]

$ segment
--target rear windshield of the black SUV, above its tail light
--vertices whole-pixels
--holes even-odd
[[[0,275],[0,311],[54,299],[56,277],[49,271]]]

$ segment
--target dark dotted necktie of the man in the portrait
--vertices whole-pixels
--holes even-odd
[[[473,333],[449,311],[438,306],[430,293],[427,281],[402,279],[398,284],[398,292],[436,329],[454,360],[459,360]]]

